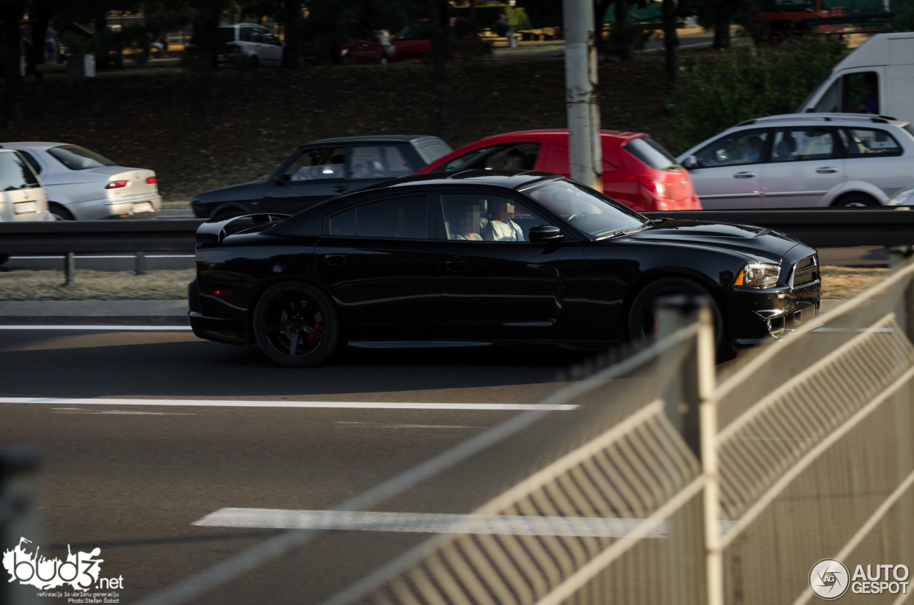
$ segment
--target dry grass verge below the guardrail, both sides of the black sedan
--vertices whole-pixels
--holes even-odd
[[[829,299],[852,298],[886,279],[887,269],[823,267],[823,296]],[[151,271],[133,275],[131,271],[76,271],[76,280],[63,285],[62,271],[0,272],[0,301],[89,301],[184,299],[194,270]]]

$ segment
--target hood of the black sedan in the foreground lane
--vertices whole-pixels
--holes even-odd
[[[758,259],[781,260],[799,239],[762,227],[663,218],[654,227],[629,233],[626,239],[707,246],[740,252]]]

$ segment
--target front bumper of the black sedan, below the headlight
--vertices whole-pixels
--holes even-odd
[[[729,340],[735,346],[771,343],[792,334],[819,315],[822,283],[792,289],[723,288],[719,298],[728,318]]]

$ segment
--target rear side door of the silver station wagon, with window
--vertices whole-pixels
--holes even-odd
[[[844,182],[845,160],[834,129],[781,128],[772,142],[761,207],[817,207],[832,187]]]

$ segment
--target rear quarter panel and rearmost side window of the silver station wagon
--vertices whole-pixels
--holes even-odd
[[[889,197],[914,184],[911,154],[887,130],[840,128],[838,133],[845,148],[846,180],[875,185]]]

